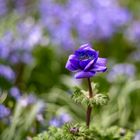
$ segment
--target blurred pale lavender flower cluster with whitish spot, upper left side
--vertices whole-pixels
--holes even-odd
[[[7,32],[0,40],[0,59],[11,64],[33,62],[32,50],[41,42],[42,26],[30,19],[17,24],[17,36]]]

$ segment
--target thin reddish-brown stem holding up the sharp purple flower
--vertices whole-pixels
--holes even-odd
[[[93,92],[92,92],[90,78],[88,78],[87,80],[88,80],[88,87],[89,87],[89,98],[92,98],[93,97]],[[90,105],[88,105],[87,114],[86,114],[86,125],[87,125],[88,128],[90,126],[91,112],[92,112],[92,107]]]

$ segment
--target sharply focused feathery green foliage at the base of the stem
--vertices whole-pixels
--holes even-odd
[[[123,132],[122,132],[123,131]],[[132,140],[133,132],[117,126],[108,129],[88,129],[85,125],[65,124],[62,128],[50,127],[33,140]]]

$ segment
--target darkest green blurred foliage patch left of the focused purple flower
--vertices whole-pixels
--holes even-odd
[[[38,46],[33,52],[36,64],[30,73],[27,86],[39,93],[50,90],[54,84],[61,84],[60,60],[51,47]]]

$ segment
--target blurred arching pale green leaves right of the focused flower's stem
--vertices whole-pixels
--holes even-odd
[[[95,122],[104,127],[116,124],[133,130],[139,129],[139,85],[140,80],[132,79],[112,84],[109,89],[110,102],[94,115]]]

